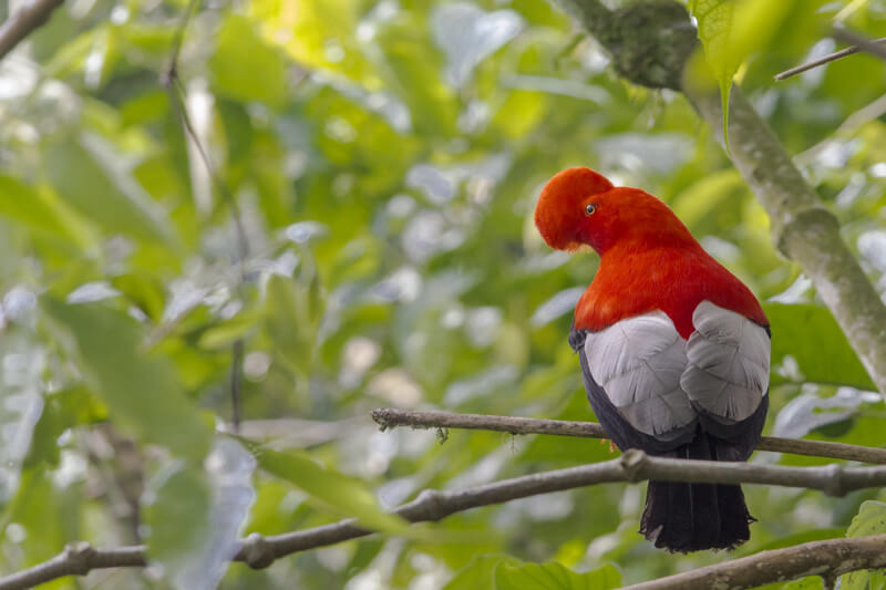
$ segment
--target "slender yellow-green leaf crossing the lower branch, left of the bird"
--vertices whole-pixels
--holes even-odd
[[[374,530],[403,534],[409,528],[402,518],[382,510],[359,479],[326,468],[297,449],[277,452],[246,439],[241,442],[262,469],[298,487],[312,503],[339,515],[356,517]]]

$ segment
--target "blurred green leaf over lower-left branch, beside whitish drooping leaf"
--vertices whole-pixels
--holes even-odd
[[[177,462],[150,482],[145,497],[142,513],[152,559],[176,561],[205,542],[212,490],[203,469]]]

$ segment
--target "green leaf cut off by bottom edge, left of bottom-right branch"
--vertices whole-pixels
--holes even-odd
[[[495,569],[495,590],[609,590],[621,587],[621,573],[604,566],[576,573],[560,563],[501,563]]]

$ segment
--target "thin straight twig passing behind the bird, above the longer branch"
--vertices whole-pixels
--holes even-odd
[[[522,418],[513,416],[490,416],[484,414],[454,414],[452,412],[419,412],[380,407],[372,411],[374,420],[382,428],[411,426],[413,428],[465,428],[473,431],[495,431],[511,434],[553,434],[559,436],[581,436],[586,438],[609,438],[602,426],[596,422],[567,422],[563,420]],[[779,436],[763,436],[758,451],[790,453],[812,457],[859,460],[886,465],[886,448],[825,443],[822,441],[800,441]]]

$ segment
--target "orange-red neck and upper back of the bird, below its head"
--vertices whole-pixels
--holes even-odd
[[[575,311],[574,328],[593,332],[614,323],[663,311],[683,338],[694,330],[692,312],[712,303],[769,325],[760,302],[748,287],[701,246],[617,244],[600,258],[600,267]]]

